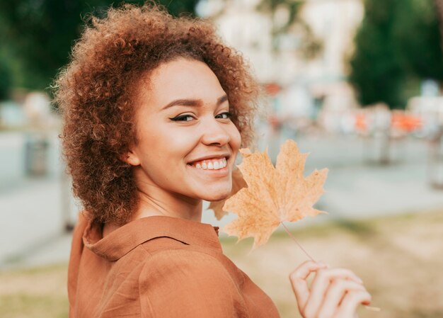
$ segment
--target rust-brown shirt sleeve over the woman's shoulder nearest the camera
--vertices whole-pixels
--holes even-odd
[[[234,263],[197,246],[149,254],[138,285],[141,302],[160,308],[159,317],[278,317],[272,300]]]

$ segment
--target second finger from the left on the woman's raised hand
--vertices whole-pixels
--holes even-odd
[[[307,316],[315,316],[318,312],[318,308],[321,307],[326,290],[328,290],[329,284],[332,280],[336,279],[353,280],[356,283],[363,283],[355,273],[345,268],[325,268],[319,269],[316,273],[316,277],[313,279],[311,286],[311,293],[306,302],[304,309]]]

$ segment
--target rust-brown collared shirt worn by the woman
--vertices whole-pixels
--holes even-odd
[[[81,215],[68,276],[70,318],[279,317],[224,256],[217,227],[176,217],[144,217],[103,237]]]

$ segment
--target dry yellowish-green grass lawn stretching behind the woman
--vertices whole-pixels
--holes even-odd
[[[381,312],[360,318],[443,317],[443,211],[340,221],[292,231],[314,259],[350,268]],[[252,239],[222,238],[224,252],[276,303],[299,317],[288,276],[306,260],[283,231],[251,252]],[[67,265],[0,272],[0,317],[67,317]]]

